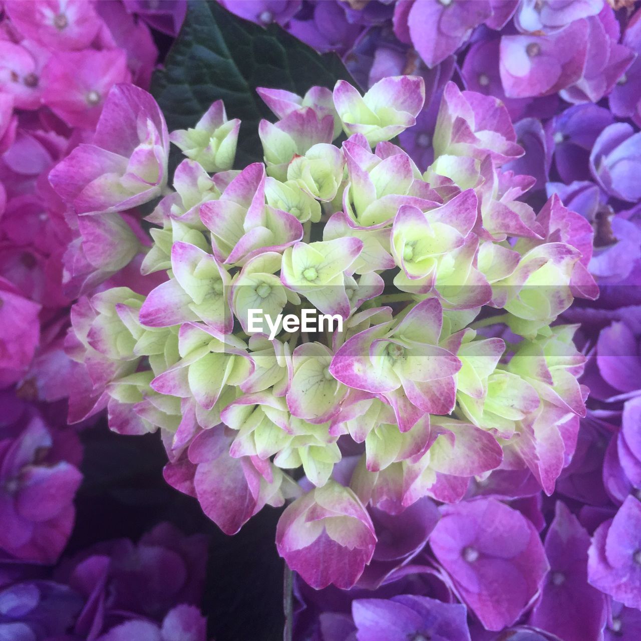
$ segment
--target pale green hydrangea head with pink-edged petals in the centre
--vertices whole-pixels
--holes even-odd
[[[557,196],[538,214],[520,201],[533,179],[503,169],[523,150],[493,98],[445,87],[420,172],[392,138],[415,124],[422,78],[258,94],[275,116],[263,162],[231,169],[240,122],[221,101],[168,133],[149,94],[117,85],[93,142],[51,174],[98,221],[81,226],[96,269],[135,260],[146,283],[74,306],[87,376],[71,415],[106,407],[116,431],[159,431],[165,478],[226,533],[294,499],[279,553],[312,587],[349,588],[372,560],[372,510],[456,503],[503,471],[554,491],[587,394],[576,326],[558,319],[598,294],[592,230]],[[187,156],[172,181],[170,141]],[[144,239],[122,223],[142,205]],[[437,557],[456,574],[453,554]],[[483,598],[465,597],[481,619]],[[524,603],[508,605],[513,622]]]

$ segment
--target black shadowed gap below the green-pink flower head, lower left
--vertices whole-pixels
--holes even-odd
[[[234,537],[162,476],[167,455],[157,435],[115,434],[101,420],[85,430],[83,485],[76,496],[76,528],[65,556],[111,538],[137,541],[162,521],[209,540],[202,610],[216,641],[282,638],[283,561],[274,537],[280,510],[265,508]]]

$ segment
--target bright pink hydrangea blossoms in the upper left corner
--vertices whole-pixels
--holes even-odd
[[[0,388],[57,401],[69,306],[92,287],[92,251],[47,174],[88,140],[115,83],[148,87],[158,58],[134,0],[7,0],[0,13]],[[185,4],[176,3],[182,8]],[[160,15],[158,15],[160,13]],[[152,12],[171,33],[172,12]],[[167,23],[167,24],[165,24]],[[136,222],[132,219],[132,226]],[[111,274],[119,267],[114,259]]]

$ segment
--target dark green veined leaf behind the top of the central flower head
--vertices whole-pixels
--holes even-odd
[[[151,92],[169,130],[192,127],[213,101],[222,99],[229,118],[240,118],[238,168],[262,161],[258,122],[272,114],[256,87],[303,95],[310,87],[355,84],[340,58],[320,55],[272,24],[242,20],[215,2],[190,0],[183,28]]]

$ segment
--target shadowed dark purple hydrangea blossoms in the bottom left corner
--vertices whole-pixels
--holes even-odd
[[[169,523],[44,570],[0,559],[0,637],[10,641],[206,641],[203,535]],[[151,579],[160,579],[156,580]]]

